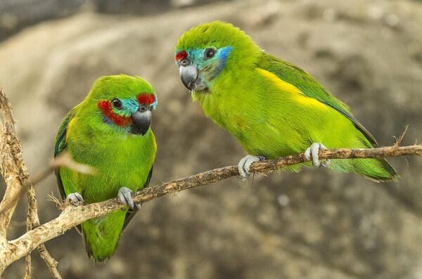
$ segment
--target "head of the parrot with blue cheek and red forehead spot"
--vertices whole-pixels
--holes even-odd
[[[222,75],[253,67],[260,48],[233,25],[215,21],[193,27],[181,35],[174,50],[181,82],[187,89],[210,92]]]

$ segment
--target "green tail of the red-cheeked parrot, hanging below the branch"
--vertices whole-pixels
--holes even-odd
[[[101,262],[114,254],[122,233],[124,216],[125,212],[112,212],[82,223],[88,257]]]

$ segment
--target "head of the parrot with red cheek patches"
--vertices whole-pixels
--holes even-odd
[[[105,129],[141,136],[150,127],[151,111],[157,103],[151,84],[125,74],[97,79],[84,100],[95,112],[91,114],[94,122],[101,122]]]

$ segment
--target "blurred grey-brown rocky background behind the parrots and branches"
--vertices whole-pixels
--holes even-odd
[[[422,1],[0,0],[0,84],[31,174],[51,160],[68,110],[118,73],[148,79],[160,99],[151,185],[237,164],[245,151],[192,103],[174,66],[180,34],[217,19],[311,73],[381,145],[407,124],[403,144],[422,141]],[[64,278],[422,278],[422,160],[390,162],[397,183],[309,168],[155,199],[106,264],[87,258],[75,230],[46,246]],[[56,217],[53,175],[36,192],[41,222]],[[26,209],[24,199],[9,238],[25,231]],[[32,254],[35,278],[49,278]]]

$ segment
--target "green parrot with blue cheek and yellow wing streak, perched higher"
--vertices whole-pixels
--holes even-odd
[[[386,160],[319,162],[319,149],[373,148],[375,138],[350,109],[304,70],[275,58],[237,27],[210,22],[184,32],[175,47],[181,82],[205,115],[234,135],[248,152],[238,164],[302,153],[314,166],[397,179]],[[300,164],[290,169],[297,171]]]

